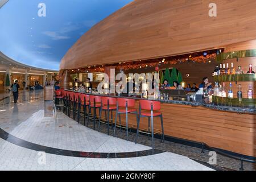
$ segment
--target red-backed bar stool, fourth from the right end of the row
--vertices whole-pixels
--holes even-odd
[[[100,96],[89,96],[89,119],[87,121],[87,127],[89,120],[93,121],[93,129],[95,130],[95,122],[101,118],[101,109],[102,109],[101,97]],[[93,108],[93,115],[92,115],[92,108]],[[96,110],[99,109],[100,117],[97,117]]]

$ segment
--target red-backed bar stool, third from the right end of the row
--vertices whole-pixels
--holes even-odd
[[[100,123],[105,123],[107,124],[108,127],[108,135],[109,135],[109,124],[113,124],[113,110],[117,110],[117,99],[114,97],[101,97],[101,102],[102,102],[102,111],[105,111],[105,118],[106,122],[104,120],[99,120],[98,121],[98,130],[100,130]],[[109,119],[109,114],[111,111],[111,119]],[[101,115],[101,114],[100,114]],[[111,121],[111,123],[110,123]]]

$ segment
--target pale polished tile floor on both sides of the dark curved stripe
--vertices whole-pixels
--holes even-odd
[[[16,105],[11,102],[12,98],[0,101],[0,128],[27,142],[61,150],[134,152],[151,149],[89,129],[62,112],[54,113],[52,102],[44,102],[43,98],[43,91],[32,91],[21,93]],[[0,164],[0,170],[213,170],[171,152],[135,158],[78,158],[43,154],[2,138]]]

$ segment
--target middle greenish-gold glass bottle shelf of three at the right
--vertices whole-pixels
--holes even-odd
[[[256,81],[256,74],[216,75],[213,78],[215,82]]]

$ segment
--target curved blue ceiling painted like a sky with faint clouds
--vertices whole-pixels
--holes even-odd
[[[9,0],[0,9],[0,51],[23,64],[58,70],[81,35],[131,1]],[[46,16],[38,15],[39,3],[46,5]]]

